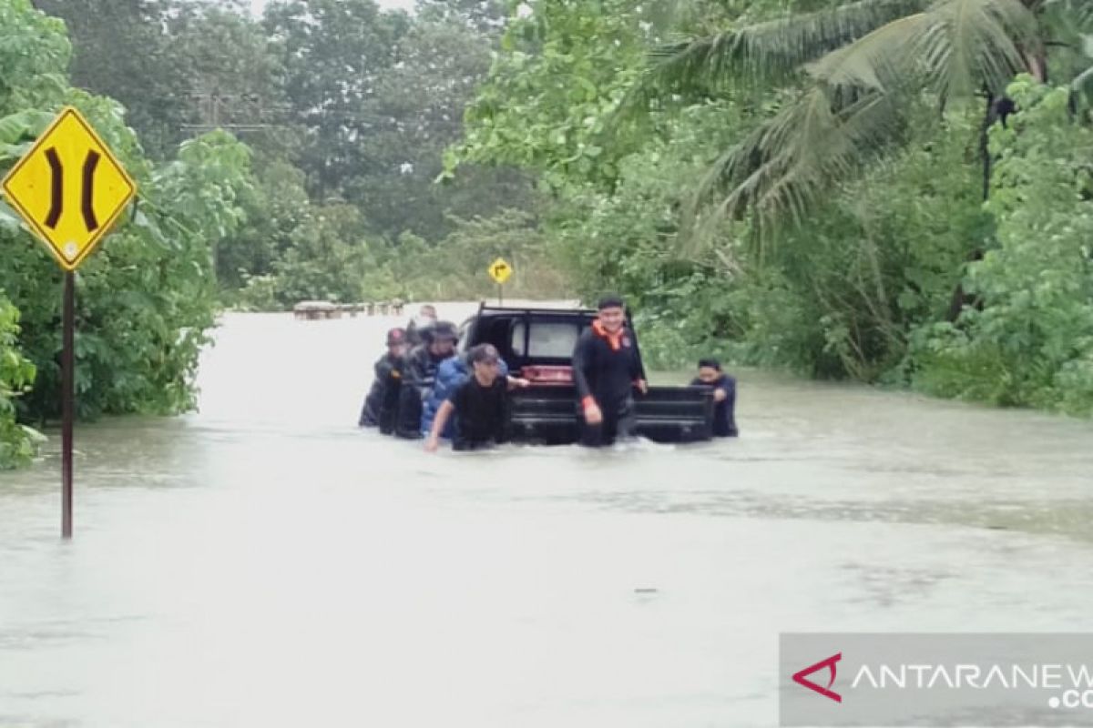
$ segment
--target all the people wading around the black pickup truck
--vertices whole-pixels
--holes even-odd
[[[589,447],[633,437],[634,392],[645,393],[645,368],[626,327],[623,300],[606,296],[592,325],[580,333],[573,353],[580,443]],[[375,381],[359,425],[385,434],[424,439],[434,452],[442,439],[455,450],[478,450],[508,439],[508,397],[530,382],[513,375],[496,347],[479,344],[456,353],[459,333],[422,306],[404,329],[387,332],[387,351],[376,361]],[[716,359],[702,359],[692,385],[714,390],[715,437],[736,437],[736,380]]]

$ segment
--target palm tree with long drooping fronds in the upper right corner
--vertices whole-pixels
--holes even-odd
[[[1093,34],[1093,0],[858,0],[661,48],[632,100],[647,108],[667,95],[803,80],[791,103],[717,159],[695,198],[707,223],[750,213],[766,226],[802,219],[898,148],[913,105],[943,112],[980,97],[985,140],[1012,109],[1004,89],[1014,75],[1047,81],[1049,51],[1069,59],[1077,98],[1093,87],[1093,67],[1073,62],[1083,41],[1085,52],[1093,46],[1083,34]],[[985,142],[984,162],[988,180]]]

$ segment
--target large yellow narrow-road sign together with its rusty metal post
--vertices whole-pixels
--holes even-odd
[[[61,335],[61,535],[72,537],[75,270],[137,195],[137,184],[87,120],[66,107],[0,184],[64,271]]]

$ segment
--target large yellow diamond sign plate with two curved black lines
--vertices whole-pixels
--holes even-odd
[[[66,271],[83,262],[137,194],[74,108],[64,108],[3,180],[3,191]]]

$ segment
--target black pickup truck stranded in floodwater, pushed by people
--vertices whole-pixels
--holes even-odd
[[[589,309],[504,308],[482,303],[459,329],[459,351],[493,344],[514,375],[531,382],[514,390],[510,431],[517,442],[568,444],[577,441],[577,396],[573,348],[596,320]],[[628,315],[627,315],[628,323]],[[628,324],[637,346],[633,325]],[[639,349],[640,350],[640,349]],[[713,390],[707,386],[649,386],[634,392],[637,433],[655,442],[709,440]]]

